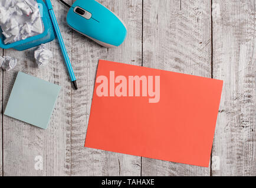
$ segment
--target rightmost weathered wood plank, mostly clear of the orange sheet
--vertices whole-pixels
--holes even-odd
[[[255,1],[214,1],[213,75],[224,80],[213,176],[255,176]]]

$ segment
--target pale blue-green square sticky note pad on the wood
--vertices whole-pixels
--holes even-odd
[[[18,72],[4,115],[46,129],[61,87]]]

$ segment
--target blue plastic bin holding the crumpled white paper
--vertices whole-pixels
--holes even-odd
[[[35,46],[39,46],[42,43],[47,43],[55,39],[55,33],[54,29],[52,28],[51,19],[48,13],[47,6],[44,4],[44,1],[37,0],[38,6],[40,8],[40,14],[42,18],[42,23],[44,24],[44,32],[31,36],[27,39],[17,41],[14,43],[8,43],[5,45],[4,39],[5,36],[2,35],[2,29],[0,28],[0,48],[8,49],[8,48],[14,48],[18,51],[24,51],[25,49],[33,48]]]

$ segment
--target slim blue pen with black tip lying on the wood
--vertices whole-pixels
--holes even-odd
[[[65,64],[67,66],[71,82],[73,83],[74,88],[77,90],[78,88],[77,88],[76,76],[74,75],[74,70],[72,69],[70,59],[68,58],[68,53],[67,53],[67,50],[65,48],[63,38],[61,36],[60,28],[58,27],[57,19],[55,17],[54,11],[52,9],[51,1],[50,0],[45,0],[45,3],[47,5],[47,8],[48,8],[48,11],[49,11],[49,14],[50,14],[50,18],[51,18],[53,28],[54,28],[55,33],[56,33],[57,38],[58,38],[58,43],[60,43],[61,52],[63,54]]]

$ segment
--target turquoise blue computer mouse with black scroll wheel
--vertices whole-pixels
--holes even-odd
[[[68,25],[102,46],[116,47],[123,43],[127,29],[123,21],[94,0],[77,0],[67,15]]]

